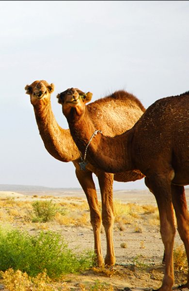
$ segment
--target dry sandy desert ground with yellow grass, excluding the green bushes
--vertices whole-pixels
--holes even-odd
[[[186,189],[189,201],[189,189]],[[100,201],[100,194],[98,192]],[[26,210],[35,200],[52,200],[63,205],[72,205],[78,208],[70,210],[68,221],[71,218],[77,223],[65,222],[60,218],[48,222],[34,224],[24,219]],[[10,204],[12,210],[3,208],[3,201],[14,201]],[[76,252],[94,248],[93,230],[90,225],[89,208],[85,194],[79,189],[45,190],[30,189],[25,191],[0,191],[0,226],[19,227],[35,233],[40,229],[50,229],[63,235],[69,248]],[[83,204],[84,203],[84,204]],[[66,291],[150,291],[161,286],[164,264],[163,243],[159,233],[159,220],[156,200],[147,189],[114,191],[115,223],[113,229],[116,265],[113,267],[91,268],[81,274],[65,275],[61,282],[57,282],[54,290]],[[81,205],[84,205],[84,207]],[[127,215],[122,209],[129,207]],[[18,209],[19,208],[19,209]],[[23,210],[20,210],[20,208]],[[17,214],[16,214],[17,209]],[[84,216],[81,218],[81,209]],[[25,212],[24,212],[25,211]],[[122,213],[123,212],[123,213]],[[11,216],[12,215],[12,216]],[[79,216],[80,215],[80,216]],[[84,218],[83,218],[84,217]],[[73,220],[74,221],[74,220]],[[102,226],[101,230],[103,255],[106,254],[106,237]],[[175,246],[181,245],[178,232],[175,236]],[[186,281],[186,269],[175,270],[174,290],[176,286]],[[58,286],[58,287],[57,287]],[[0,282],[0,290],[8,290]],[[188,289],[182,289],[188,290]]]

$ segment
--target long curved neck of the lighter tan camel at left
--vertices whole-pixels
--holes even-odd
[[[33,105],[33,108],[39,133],[49,154],[62,162],[77,160],[80,154],[70,130],[58,125],[50,101]]]

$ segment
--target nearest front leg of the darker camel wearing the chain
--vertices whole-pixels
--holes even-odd
[[[169,175],[167,175],[169,176]],[[160,218],[160,233],[165,249],[165,273],[162,286],[156,291],[172,291],[174,283],[173,244],[175,236],[171,181],[165,175],[146,178],[156,197]]]

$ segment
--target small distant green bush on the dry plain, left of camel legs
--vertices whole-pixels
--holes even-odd
[[[53,219],[57,212],[65,214],[65,210],[61,210],[52,200],[35,201],[32,203],[32,208],[35,214],[32,222],[48,222]]]

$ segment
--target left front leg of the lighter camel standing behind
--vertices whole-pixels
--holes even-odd
[[[79,183],[83,191],[86,194],[87,201],[89,204],[91,224],[94,233],[94,252],[96,255],[96,264],[98,267],[101,267],[102,265],[104,265],[100,239],[102,219],[98,208],[97,194],[92,174],[93,173],[90,171],[80,171],[76,169],[76,176],[79,180]]]

